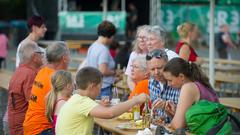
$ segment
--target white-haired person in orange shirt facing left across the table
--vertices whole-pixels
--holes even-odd
[[[131,79],[135,82],[136,86],[128,99],[131,99],[135,95],[140,95],[141,93],[149,95],[148,78],[149,72],[147,70],[146,58],[138,56],[133,59],[133,63],[131,65]]]

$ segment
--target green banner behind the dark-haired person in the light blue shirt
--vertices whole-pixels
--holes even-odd
[[[103,12],[59,12],[58,17],[61,33],[97,34],[97,26],[103,21]],[[107,12],[107,20],[114,23],[117,34],[125,33],[125,12]]]

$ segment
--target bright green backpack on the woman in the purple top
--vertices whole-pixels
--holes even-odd
[[[222,104],[200,100],[187,110],[185,118],[190,133],[197,135],[232,134],[228,112]]]

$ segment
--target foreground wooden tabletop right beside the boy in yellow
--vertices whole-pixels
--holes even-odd
[[[102,127],[103,129],[112,132],[112,135],[136,135],[138,130],[135,129],[129,129],[129,130],[123,130],[116,128],[121,123],[126,123],[127,121],[117,120],[114,119],[99,119],[94,118],[94,122]]]

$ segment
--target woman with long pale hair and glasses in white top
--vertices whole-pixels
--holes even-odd
[[[135,88],[135,83],[131,79],[131,65],[133,59],[135,59],[138,56],[146,56],[148,53],[147,49],[147,31],[150,28],[149,25],[143,25],[137,28],[137,34],[136,34],[136,40],[134,41],[134,47],[133,51],[130,54],[128,65],[125,71],[125,74],[127,77],[127,83],[130,90],[133,90]]]

